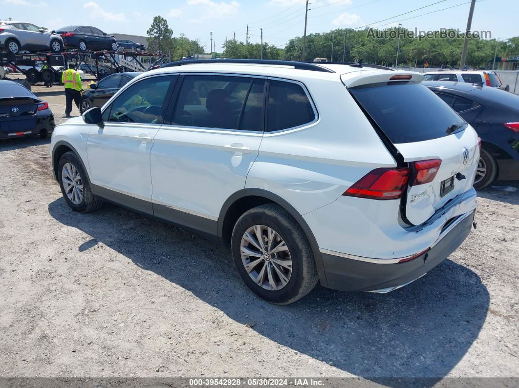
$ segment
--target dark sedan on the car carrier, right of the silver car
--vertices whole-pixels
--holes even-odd
[[[69,25],[58,31],[63,38],[66,48],[87,50],[117,51],[117,40],[113,36],[88,25]]]

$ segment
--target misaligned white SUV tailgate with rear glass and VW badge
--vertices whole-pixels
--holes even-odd
[[[477,134],[414,74],[408,81],[391,81],[400,72],[387,73],[386,80],[379,76],[374,83],[357,80],[349,91],[394,147],[395,159],[409,167],[402,216],[420,225],[471,189],[479,160]]]

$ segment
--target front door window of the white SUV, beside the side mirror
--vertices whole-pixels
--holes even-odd
[[[103,112],[103,121],[162,124],[164,103],[176,77],[151,77],[134,83]]]

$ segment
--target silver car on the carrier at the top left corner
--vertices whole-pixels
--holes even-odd
[[[0,49],[11,54],[27,51],[63,51],[60,35],[48,32],[31,23],[0,21]]]

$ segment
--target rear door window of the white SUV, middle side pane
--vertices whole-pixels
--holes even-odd
[[[173,125],[235,130],[252,78],[185,76]]]

